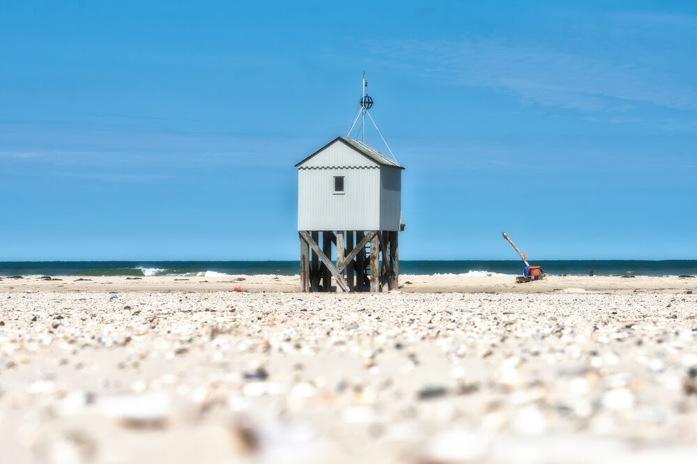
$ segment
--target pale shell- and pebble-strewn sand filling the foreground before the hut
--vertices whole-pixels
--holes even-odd
[[[0,293],[1,463],[659,461],[687,291]]]

